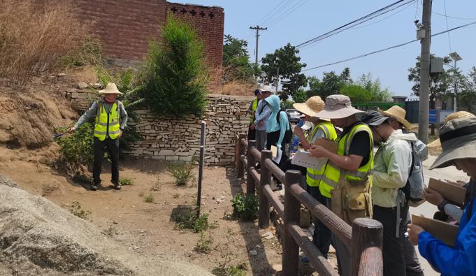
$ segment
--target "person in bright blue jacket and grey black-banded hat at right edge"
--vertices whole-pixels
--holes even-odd
[[[441,275],[476,275],[476,117],[454,119],[443,125],[440,141],[442,153],[430,169],[455,166],[470,177],[454,247],[415,224],[408,225],[408,234],[421,256]]]

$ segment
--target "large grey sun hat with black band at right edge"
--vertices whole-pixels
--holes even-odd
[[[476,158],[476,117],[454,119],[440,129],[442,153],[430,169],[452,166],[456,159]]]

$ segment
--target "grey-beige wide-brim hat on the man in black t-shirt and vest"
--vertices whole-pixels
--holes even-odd
[[[326,98],[324,110],[317,112],[315,117],[326,119],[342,119],[363,111],[352,107],[350,98],[345,95],[331,95]]]

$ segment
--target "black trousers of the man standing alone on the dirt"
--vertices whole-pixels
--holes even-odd
[[[94,162],[92,166],[92,180],[94,184],[101,184],[101,168],[103,166],[104,152],[108,152],[110,158],[111,181],[119,182],[119,138],[113,140],[106,138],[103,141],[94,137]]]

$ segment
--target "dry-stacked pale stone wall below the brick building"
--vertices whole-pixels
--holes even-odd
[[[84,111],[97,94],[87,89],[70,89],[66,97],[73,108]],[[205,132],[205,164],[225,165],[233,162],[236,133],[247,132],[250,117],[246,110],[253,97],[208,95],[208,108],[203,120]],[[140,122],[134,124],[144,140],[131,145],[134,157],[164,161],[191,161],[200,153],[201,121],[199,117],[157,118],[148,110],[137,110]]]

